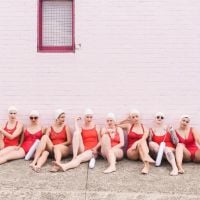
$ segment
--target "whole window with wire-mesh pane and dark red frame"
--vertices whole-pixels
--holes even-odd
[[[38,51],[74,52],[74,0],[39,0]]]

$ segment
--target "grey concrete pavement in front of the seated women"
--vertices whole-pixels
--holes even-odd
[[[17,160],[0,166],[0,200],[199,200],[200,165],[186,163],[186,173],[169,176],[170,166],[151,167],[141,175],[141,162],[124,159],[117,172],[103,174],[106,162],[94,169],[84,163],[67,172],[50,173],[50,160],[40,173],[29,168],[29,161]]]

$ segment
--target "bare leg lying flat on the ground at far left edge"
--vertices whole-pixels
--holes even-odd
[[[20,148],[19,150],[12,150],[0,157],[0,165],[10,160],[17,160],[24,157],[25,157],[25,152],[22,148]]]

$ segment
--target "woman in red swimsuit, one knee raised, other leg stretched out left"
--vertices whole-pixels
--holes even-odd
[[[79,128],[78,121],[80,117],[75,118],[75,132],[72,139],[73,158],[70,162],[62,164],[55,161],[54,164],[62,171],[78,167],[82,162],[89,160],[94,162],[100,147],[99,128],[93,122],[93,111],[87,109],[84,112],[84,122]]]

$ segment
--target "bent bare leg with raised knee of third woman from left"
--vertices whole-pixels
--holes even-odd
[[[42,156],[42,153],[44,152],[45,149],[48,149],[50,151],[52,151],[53,149],[53,144],[47,135],[42,136],[40,144],[36,150],[34,160],[30,164],[30,167],[34,167],[36,165],[38,159],[40,158],[40,156]]]

